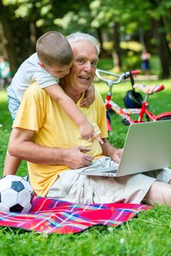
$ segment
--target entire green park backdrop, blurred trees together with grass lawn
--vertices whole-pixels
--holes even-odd
[[[170,0],[3,0],[0,1],[0,55],[6,56],[12,74],[35,52],[39,36],[49,30],[64,35],[83,31],[99,39],[99,68],[123,72],[140,69],[142,45],[151,53],[151,75],[145,84],[163,83],[164,91],[151,97],[153,113],[171,110],[171,1]],[[142,75],[144,75],[142,73]],[[148,79],[148,80],[146,80]],[[149,80],[150,79],[150,80]],[[102,97],[104,83],[96,82]],[[129,82],[115,87],[114,97],[123,104]],[[11,132],[7,91],[0,91],[0,174]],[[128,127],[113,116],[110,142],[123,146]],[[26,162],[18,175],[27,173]],[[0,254],[10,255],[171,255],[171,210],[155,206],[120,227],[93,227],[77,235],[28,233],[0,227]]]

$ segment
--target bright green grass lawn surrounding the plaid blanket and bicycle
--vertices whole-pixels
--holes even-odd
[[[146,82],[148,83],[148,82]],[[150,105],[154,113],[171,110],[171,80],[158,81],[166,89],[151,96]],[[149,84],[151,84],[149,82]],[[102,96],[107,86],[96,83]],[[123,105],[123,95],[129,89],[129,83],[115,86],[115,101]],[[7,93],[0,91],[0,170],[2,175],[4,157],[11,131],[12,121],[7,110]],[[117,147],[123,146],[128,127],[123,126],[121,118],[112,116],[113,132],[110,142]],[[27,173],[26,162],[20,165],[18,175]],[[171,195],[170,195],[171,196]],[[0,227],[1,256],[10,255],[171,255],[171,209],[167,206],[155,206],[142,212],[119,227],[92,227],[75,235],[46,235],[45,233]]]

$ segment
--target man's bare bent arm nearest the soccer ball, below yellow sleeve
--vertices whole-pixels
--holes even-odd
[[[83,151],[90,150],[83,146],[72,148],[39,146],[31,141],[34,133],[29,129],[13,128],[9,139],[9,154],[12,157],[18,157],[35,164],[67,165],[72,169],[91,165],[94,159],[90,155],[83,153]]]

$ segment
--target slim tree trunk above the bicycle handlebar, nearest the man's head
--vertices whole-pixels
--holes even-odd
[[[120,48],[120,34],[119,34],[119,23],[115,23],[112,29],[113,37],[113,64],[116,72],[121,71],[121,48]]]

